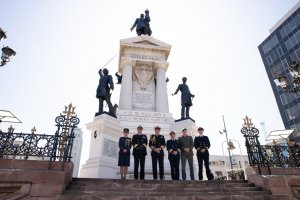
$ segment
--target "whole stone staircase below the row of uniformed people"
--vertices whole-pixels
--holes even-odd
[[[246,181],[154,181],[74,178],[57,200],[272,200]]]

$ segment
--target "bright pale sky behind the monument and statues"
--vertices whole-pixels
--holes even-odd
[[[118,55],[120,39],[135,37],[134,20],[150,10],[153,37],[172,45],[167,77],[170,112],[180,118],[180,97],[171,96],[181,78],[193,94],[190,115],[205,128],[211,154],[222,154],[225,116],[229,138],[240,141],[248,115],[261,130],[284,129],[258,45],[296,0],[0,0],[0,27],[17,52],[0,68],[0,110],[23,123],[15,132],[54,134],[56,116],[72,102],[81,122],[82,163],[88,158],[98,70]],[[112,74],[118,59],[107,68]],[[115,80],[116,81],[116,80]],[[119,102],[116,86],[112,102]],[[10,124],[1,123],[6,130]],[[261,131],[262,132],[262,131]],[[263,139],[263,133],[260,134]],[[261,140],[263,142],[263,140]]]

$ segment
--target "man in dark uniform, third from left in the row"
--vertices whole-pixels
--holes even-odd
[[[149,147],[151,148],[153,178],[157,180],[157,161],[159,165],[159,178],[164,179],[164,148],[165,137],[160,135],[160,127],[154,128],[155,134],[150,136]]]

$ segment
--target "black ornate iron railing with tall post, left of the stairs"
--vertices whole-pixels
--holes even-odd
[[[49,160],[49,169],[54,161],[64,163],[71,161],[74,129],[79,119],[70,104],[56,117],[57,131],[54,135],[0,132],[0,159],[34,159]]]

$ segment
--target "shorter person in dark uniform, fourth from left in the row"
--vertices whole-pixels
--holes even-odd
[[[167,150],[169,152],[171,177],[172,180],[179,180],[180,143],[176,140],[174,131],[171,131],[170,136],[171,139],[167,141]]]

